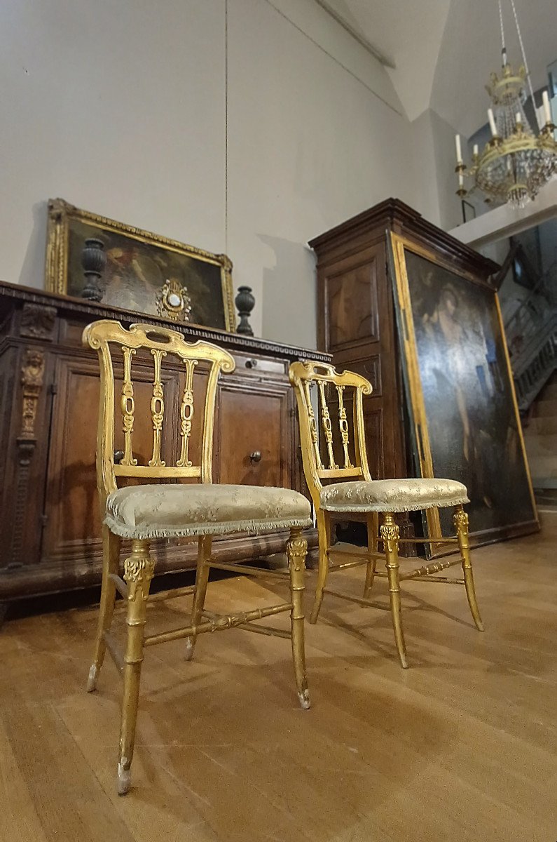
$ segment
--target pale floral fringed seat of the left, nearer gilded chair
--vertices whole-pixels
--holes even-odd
[[[123,538],[225,535],[310,526],[309,500],[289,488],[172,484],[119,488],[104,523]]]

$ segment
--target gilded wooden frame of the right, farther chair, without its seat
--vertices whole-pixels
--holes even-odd
[[[370,395],[372,392],[372,386],[369,381],[365,380],[364,377],[359,374],[355,374],[353,371],[343,371],[342,374],[339,374],[332,365],[323,365],[312,361],[292,363],[289,369],[289,377],[290,382],[294,386],[296,402],[298,405],[305,482],[307,482],[308,488],[310,489],[311,499],[313,500],[313,504],[316,508],[317,531],[319,536],[319,569],[317,573],[316,597],[310,616],[310,622],[316,623],[321,610],[321,603],[323,601],[324,594],[332,593],[326,588],[329,572],[334,569],[340,569],[347,566],[346,564],[342,564],[342,562],[336,564],[334,562],[331,563],[332,557],[347,557],[350,555],[347,552],[341,553],[335,551],[332,547],[331,513],[321,508],[321,489],[323,488],[323,482],[328,480],[342,482],[344,480],[360,478],[371,482],[363,424],[363,395]],[[316,418],[311,405],[311,387],[315,386],[315,384],[317,385],[321,405],[323,438],[326,442],[329,467],[323,467],[322,465]],[[345,456],[345,467],[343,468],[339,468],[334,461],[332,424],[329,409],[326,405],[326,386],[332,386],[337,391],[338,429],[340,440],[342,442],[342,450]],[[348,459],[350,435],[349,429],[347,429],[347,413],[342,397],[347,389],[353,390],[354,466],[350,464]],[[430,510],[431,509],[428,511]],[[438,509],[434,509],[434,511],[437,513]],[[346,515],[343,514],[343,516],[348,518],[350,513],[346,513]],[[461,564],[464,571],[464,580],[462,580],[462,584],[465,584],[466,587],[469,608],[472,616],[474,617],[476,627],[480,632],[483,632],[484,627],[480,619],[480,611],[475,597],[474,578],[469,556],[468,515],[464,512],[462,506],[456,507],[454,512],[454,529],[456,531],[456,537],[441,537],[440,540],[436,537],[435,539],[435,541],[439,541],[438,546],[445,547],[457,542],[460,551],[459,559],[425,565],[424,567],[417,568],[410,573],[401,574],[399,571],[400,528],[395,523],[393,513],[387,508],[385,508],[382,512],[382,524],[379,530],[379,541],[383,543],[383,553],[377,552],[378,514],[368,514],[367,529],[368,552],[358,553],[358,561],[353,562],[353,565],[351,565],[366,565],[363,599],[354,600],[352,597],[347,597],[347,599],[357,602],[358,605],[366,603],[371,604],[369,601],[369,594],[371,593],[371,589],[374,584],[374,578],[375,576],[381,575],[381,573],[376,571],[375,566],[377,559],[383,558],[385,560],[386,577],[389,581],[390,612],[393,621],[393,630],[395,632],[395,644],[402,667],[406,668],[408,666],[406,660],[406,644],[401,622],[400,583],[404,579],[412,578],[416,581],[423,581],[433,573],[437,573],[440,569],[453,567],[455,564]],[[422,540],[419,538],[406,539],[407,543],[413,544],[419,544],[421,541]],[[441,581],[441,579],[438,579],[438,581]],[[342,596],[342,594],[337,593],[336,595]]]

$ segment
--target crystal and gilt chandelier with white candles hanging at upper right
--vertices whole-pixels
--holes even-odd
[[[545,123],[538,135],[534,134],[524,112],[527,83],[532,96],[534,115],[536,109],[528,64],[524,55],[523,39],[518,26],[517,11],[514,0],[511,0],[523,56],[523,66],[515,72],[507,62],[501,0],[498,0],[498,3],[501,22],[502,70],[499,77],[496,73],[491,73],[491,84],[486,86],[492,104],[492,107],[487,110],[491,140],[485,144],[481,154],[479,148],[474,147],[472,165],[467,168],[462,160],[460,136],[457,135],[457,165],[454,171],[459,175],[457,195],[460,198],[469,194],[469,191],[464,188],[464,176],[469,176],[474,179],[475,187],[485,194],[487,202],[493,204],[508,202],[514,208],[522,208],[529,200],[533,200],[540,187],[549,181],[554,173],[557,173],[557,143],[554,140],[555,126],[551,120],[547,91],[542,94]]]

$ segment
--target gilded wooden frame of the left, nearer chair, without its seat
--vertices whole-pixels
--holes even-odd
[[[215,396],[217,380],[220,371],[232,372],[235,361],[231,354],[215,345],[196,342],[188,344],[181,333],[166,328],[149,328],[146,325],[132,324],[130,329],[123,328],[119,322],[103,320],[93,322],[83,331],[84,345],[98,352],[101,370],[101,391],[98,413],[97,438],[97,477],[100,514],[103,520],[106,511],[106,500],[110,493],[117,488],[117,478],[141,477],[145,480],[157,479],[185,479],[194,477],[199,482],[212,482],[213,432],[215,418]],[[114,349],[114,350],[113,350]],[[153,377],[149,412],[152,426],[151,458],[147,465],[139,465],[134,456],[133,432],[135,425],[135,398],[133,384],[132,360],[137,352],[148,351],[153,363]],[[123,356],[123,381],[120,397],[120,413],[122,429],[125,436],[124,458],[115,464],[114,454],[114,354],[121,352]],[[162,361],[167,354],[173,354],[182,361],[186,369],[183,396],[180,412],[165,415],[164,389],[162,382]],[[207,386],[204,399],[204,409],[199,413],[201,432],[200,464],[194,465],[188,458],[188,442],[192,432],[194,418],[194,368],[203,363],[209,366]],[[162,433],[165,424],[172,425],[172,418],[179,418],[179,428],[175,430],[175,439],[181,440],[177,464],[168,466],[161,456]],[[196,417],[198,417],[196,415]],[[249,520],[250,513],[246,513]],[[89,670],[88,692],[96,689],[98,674],[103,665],[105,653],[109,652],[114,660],[124,682],[124,693],[121,709],[119,762],[118,762],[118,792],[125,795],[131,785],[131,761],[134,753],[135,727],[139,702],[141,663],[143,649],[156,643],[169,642],[186,638],[186,658],[194,654],[194,646],[199,634],[204,632],[222,631],[228,628],[241,627],[255,632],[274,634],[272,628],[253,626],[253,622],[267,616],[289,611],[290,632],[278,630],[279,637],[289,637],[292,642],[292,657],[294,663],[294,679],[298,691],[298,698],[302,708],[310,706],[310,697],[305,676],[304,649],[304,569],[307,541],[300,529],[290,530],[287,545],[289,557],[290,600],[268,608],[255,611],[242,611],[225,616],[211,616],[208,621],[204,616],[204,600],[209,581],[212,538],[210,525],[208,534],[198,540],[198,563],[196,584],[190,589],[194,593],[194,605],[188,626],[172,629],[169,632],[159,632],[155,635],[145,635],[146,604],[149,596],[151,579],[155,573],[155,561],[151,556],[150,541],[134,540],[131,542],[131,555],[124,563],[124,578],[119,577],[119,547],[117,536],[110,533],[103,525],[103,585],[101,605],[98,619],[98,632],[93,656],[93,664]],[[218,562],[217,562],[218,564]],[[237,573],[252,573],[249,567],[231,564],[229,569]],[[257,575],[257,572],[255,572]],[[270,576],[273,573],[269,573]],[[278,574],[281,578],[281,574]],[[125,651],[122,653],[110,633],[110,626],[114,615],[114,600],[116,591],[125,597],[127,602],[127,636]]]

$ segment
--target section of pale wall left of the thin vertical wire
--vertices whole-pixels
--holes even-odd
[[[223,0],[3,0],[0,278],[42,286],[46,201],[224,250]]]

